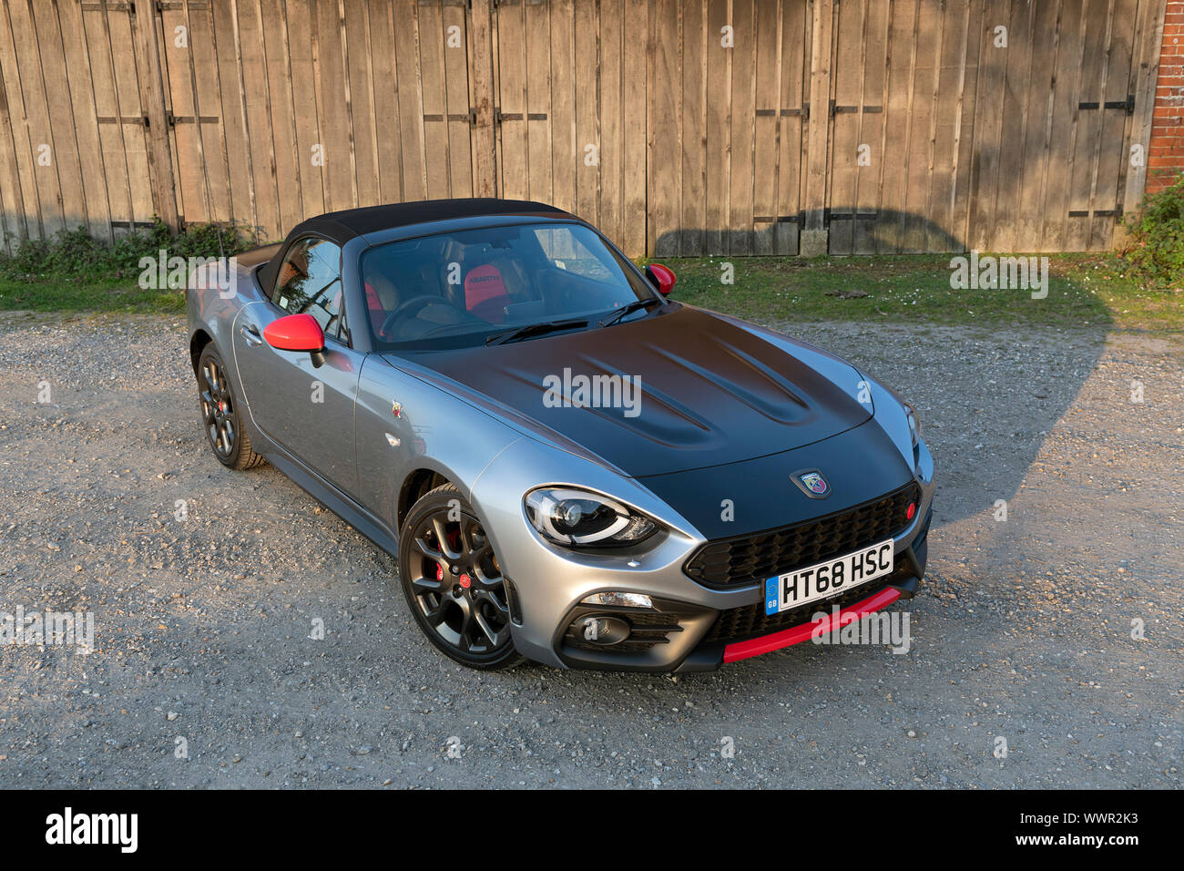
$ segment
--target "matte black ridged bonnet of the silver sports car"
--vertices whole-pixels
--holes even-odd
[[[686,306],[579,333],[406,357],[633,476],[790,450],[871,416],[852,396],[860,376],[851,366]],[[639,378],[636,408],[548,406],[548,385],[581,374]]]

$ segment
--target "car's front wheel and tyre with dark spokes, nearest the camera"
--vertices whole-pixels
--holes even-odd
[[[481,520],[451,483],[407,512],[399,582],[419,628],[446,657],[480,671],[523,661],[514,649],[504,581]]]

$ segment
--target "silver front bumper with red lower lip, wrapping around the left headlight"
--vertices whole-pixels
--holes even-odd
[[[836,602],[843,608],[863,608],[867,613],[871,606],[882,608],[889,603],[888,596],[879,595],[884,590],[895,591],[892,601],[909,597],[925,574],[934,485],[933,459],[924,442],[916,449],[913,474],[921,493],[919,510],[907,526],[893,534],[896,551],[893,574],[855,588],[854,593],[796,609],[804,610],[802,614],[784,611],[776,619],[764,617],[760,583],[712,588],[688,576],[688,559],[707,540],[669,504],[632,479],[623,479],[594,463],[577,462],[572,455],[556,457],[556,453],[533,440],[519,440],[485,469],[470,494],[478,515],[487,520],[487,532],[514,585],[516,607],[511,609],[511,632],[515,647],[536,662],[559,668],[620,672],[712,670],[738,658],[736,649],[751,649],[741,647],[728,653],[729,646],[753,638],[774,635],[778,638],[772,643],[785,646],[780,642],[789,636],[781,633],[807,622],[819,609],[829,610]],[[540,482],[611,493],[655,517],[669,532],[642,553],[572,552],[551,546],[526,521],[517,495]],[[713,497],[704,494],[703,498]],[[857,550],[861,544],[864,543],[848,550]],[[607,590],[645,594],[654,600],[655,608],[581,604],[591,594]],[[856,597],[849,598],[854,594]],[[867,598],[873,600],[871,606],[863,602]],[[594,615],[626,621],[630,639],[609,647],[585,643],[578,626]]]

